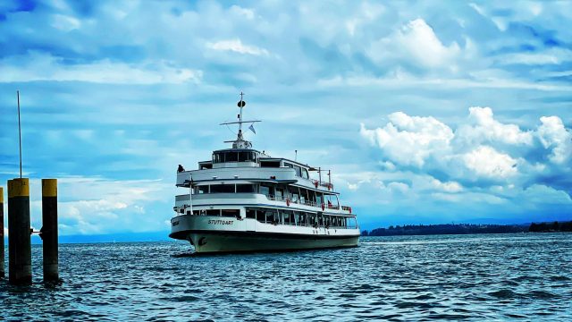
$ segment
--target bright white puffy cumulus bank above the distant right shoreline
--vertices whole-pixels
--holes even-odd
[[[572,156],[572,133],[558,116],[541,117],[542,124],[533,131],[501,123],[490,107],[470,107],[467,120],[456,130],[432,116],[397,112],[388,118],[382,127],[367,129],[363,123],[360,127],[362,138],[378,148],[382,165],[389,162],[400,171],[484,188],[496,184],[526,188],[551,181],[553,188],[569,189],[566,180],[550,179],[567,177]],[[450,188],[460,190],[460,185]]]

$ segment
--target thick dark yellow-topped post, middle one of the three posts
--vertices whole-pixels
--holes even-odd
[[[8,232],[8,281],[32,284],[28,178],[8,181]]]

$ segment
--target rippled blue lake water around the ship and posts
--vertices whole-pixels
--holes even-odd
[[[572,319],[572,234],[362,238],[359,247],[173,257],[184,242],[61,245],[65,283],[0,281],[0,320]]]

